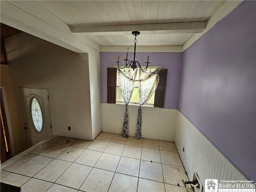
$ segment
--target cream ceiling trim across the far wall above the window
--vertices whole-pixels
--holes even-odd
[[[134,46],[101,46],[100,52],[126,52],[127,47],[134,49]],[[182,46],[136,46],[136,52],[181,53]]]

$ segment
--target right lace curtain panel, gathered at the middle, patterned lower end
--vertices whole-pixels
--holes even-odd
[[[141,123],[142,123],[142,113],[141,106],[144,105],[152,95],[154,94],[157,85],[159,83],[159,71],[161,68],[157,68],[153,72],[144,72],[139,70],[139,98],[140,98],[140,106],[138,108],[138,118],[137,118],[137,126],[136,126],[136,134],[135,138],[141,138]]]

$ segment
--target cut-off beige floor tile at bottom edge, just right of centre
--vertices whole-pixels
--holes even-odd
[[[138,192],[164,192],[164,183],[139,178]]]

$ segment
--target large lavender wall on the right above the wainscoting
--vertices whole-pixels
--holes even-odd
[[[256,181],[256,2],[245,1],[182,56],[182,112]]]

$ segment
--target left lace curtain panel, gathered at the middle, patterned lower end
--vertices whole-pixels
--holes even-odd
[[[122,136],[124,138],[128,138],[128,104],[132,98],[132,93],[134,90],[134,82],[136,78],[137,70],[132,75],[130,70],[128,71],[121,71],[118,68],[118,80],[120,84],[120,90],[122,97],[125,103],[125,114],[124,114],[124,123],[122,128]]]

